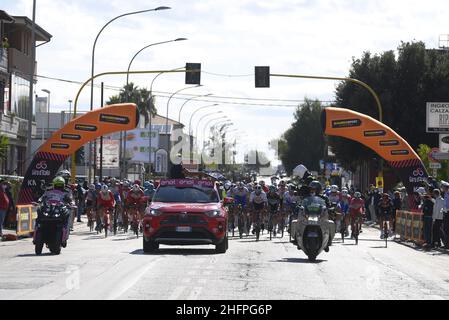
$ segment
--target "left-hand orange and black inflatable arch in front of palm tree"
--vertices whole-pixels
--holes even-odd
[[[132,130],[138,122],[137,106],[125,103],[90,111],[67,123],[34,155],[22,182],[17,204],[36,202],[64,161],[83,145],[103,135]]]

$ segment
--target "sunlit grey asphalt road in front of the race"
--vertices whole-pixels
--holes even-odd
[[[389,242],[365,228],[358,246],[336,240],[310,263],[284,239],[232,239],[213,246],[161,246],[105,239],[75,227],[60,256],[34,255],[31,239],[0,242],[0,299],[449,299],[449,255]]]

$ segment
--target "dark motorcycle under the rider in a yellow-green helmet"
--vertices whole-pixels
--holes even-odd
[[[42,254],[44,244],[52,254],[61,253],[69,238],[68,219],[72,208],[63,203],[33,203],[38,206],[33,244],[36,255]]]

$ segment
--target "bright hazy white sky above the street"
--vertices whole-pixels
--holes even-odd
[[[0,8],[31,18],[32,3],[1,0]],[[231,129],[237,131],[229,135],[238,138],[239,151],[257,147],[268,152],[268,141],[294,121],[296,105],[305,97],[333,101],[337,85],[326,80],[271,78],[269,89],[256,89],[254,66],[270,66],[271,73],[345,77],[353,57],[365,51],[382,53],[395,50],[401,41],[414,40],[436,48],[439,36],[449,33],[446,0],[37,0],[36,23],[53,35],[37,49],[37,74],[86,81],[94,39],[103,25],[123,13],[159,6],[171,9],[123,17],[105,28],[96,46],[95,73],[126,71],[132,56],[144,46],[188,38],[142,51],[131,70],[171,70],[186,62],[201,63],[203,86],[176,95],[169,104],[169,117],[178,119],[179,108],[191,97],[183,93],[212,94],[186,104],[181,122],[188,123],[197,108],[219,103],[215,110],[234,123]],[[130,81],[149,88],[153,78],[131,75]],[[126,76],[106,76],[96,83],[100,81],[118,88]],[[68,100],[75,100],[79,87],[39,78],[36,93],[45,96],[41,90],[50,90],[51,110],[56,112],[69,109]],[[167,96],[185,87],[181,73],[155,80],[153,91],[162,94],[156,98],[160,114],[166,114]],[[106,97],[114,94],[117,90],[105,91]],[[98,89],[94,96],[94,108],[98,108]],[[89,101],[87,87],[77,109],[89,110]],[[198,112],[194,125],[210,111],[214,108]],[[213,118],[206,117],[199,131]]]

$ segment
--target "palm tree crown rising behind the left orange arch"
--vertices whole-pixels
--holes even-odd
[[[139,89],[138,86],[134,86],[134,83],[130,82],[128,85],[124,85],[118,95],[112,96],[107,102],[110,104],[132,102],[137,105],[139,113],[145,117],[145,125],[149,123],[151,113],[155,116],[157,113],[155,106],[155,96],[146,88]]]

